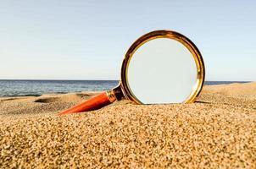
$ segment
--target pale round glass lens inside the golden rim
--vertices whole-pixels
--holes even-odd
[[[131,94],[143,104],[181,103],[197,83],[197,65],[181,42],[157,38],[134,52],[126,81]]]

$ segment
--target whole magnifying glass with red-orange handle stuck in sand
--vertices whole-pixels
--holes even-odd
[[[137,104],[192,103],[204,76],[203,57],[192,41],[172,30],[155,30],[128,49],[117,87],[58,115],[97,110],[122,98]]]

